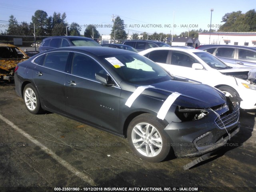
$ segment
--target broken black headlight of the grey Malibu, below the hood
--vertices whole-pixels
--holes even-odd
[[[182,121],[194,121],[204,118],[208,111],[205,109],[192,109],[178,106],[175,114]]]

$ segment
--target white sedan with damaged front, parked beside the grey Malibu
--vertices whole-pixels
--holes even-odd
[[[243,100],[240,103],[242,109],[256,109],[256,83],[255,80],[248,80],[248,72],[252,68],[232,68],[212,54],[197,49],[161,47],[150,48],[139,54],[174,76],[208,84],[226,96],[239,96]]]

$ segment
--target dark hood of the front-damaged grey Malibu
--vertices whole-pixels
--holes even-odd
[[[205,84],[170,80],[152,84],[152,86],[154,88],[146,89],[143,94],[166,100],[170,94],[178,92],[181,95],[175,100],[174,104],[187,108],[210,108],[226,102],[222,92]]]

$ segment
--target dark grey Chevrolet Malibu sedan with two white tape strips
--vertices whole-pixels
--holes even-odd
[[[42,110],[125,136],[132,151],[159,162],[199,156],[239,130],[239,107],[219,90],[172,77],[144,56],[104,47],[58,48],[18,64],[15,89]]]

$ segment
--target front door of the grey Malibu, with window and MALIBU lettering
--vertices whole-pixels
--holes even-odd
[[[66,76],[66,112],[78,120],[113,132],[118,124],[121,89],[98,82],[95,73],[107,74],[90,56],[74,53],[71,74]]]

